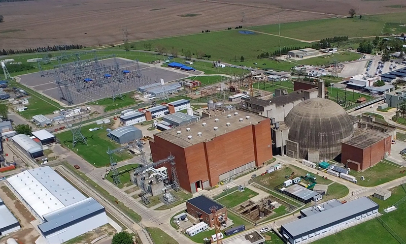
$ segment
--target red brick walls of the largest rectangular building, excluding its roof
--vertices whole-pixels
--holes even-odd
[[[154,161],[166,158],[171,152],[175,156],[176,171],[181,187],[191,191],[190,184],[201,180],[210,181],[210,186],[219,182],[219,175],[242,165],[272,159],[269,119],[259,124],[246,126],[236,131],[182,148],[154,135],[150,141]],[[171,166],[168,168],[171,175]]]

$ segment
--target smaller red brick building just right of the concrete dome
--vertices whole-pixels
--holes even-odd
[[[390,156],[391,135],[367,130],[342,143],[341,162],[352,170],[363,171]]]

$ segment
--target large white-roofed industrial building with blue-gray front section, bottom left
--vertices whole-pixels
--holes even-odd
[[[41,224],[43,243],[60,244],[108,223],[105,208],[86,198],[49,166],[29,169],[6,184]]]

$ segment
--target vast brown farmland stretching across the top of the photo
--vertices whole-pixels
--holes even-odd
[[[0,49],[47,45],[105,45],[122,41],[212,31],[238,25],[391,13],[402,0],[38,0],[1,3]],[[359,9],[359,11],[358,11]],[[403,8],[404,9],[404,8]],[[242,12],[246,22],[242,23]],[[189,15],[190,14],[190,15]],[[357,13],[358,14],[358,13]],[[183,16],[183,17],[182,17]],[[191,16],[191,17],[187,17]],[[85,34],[86,33],[86,34]]]

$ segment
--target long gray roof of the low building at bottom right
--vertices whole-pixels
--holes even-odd
[[[346,220],[377,210],[379,205],[367,197],[322,210],[317,214],[282,225],[281,230],[293,239],[326,229]]]

